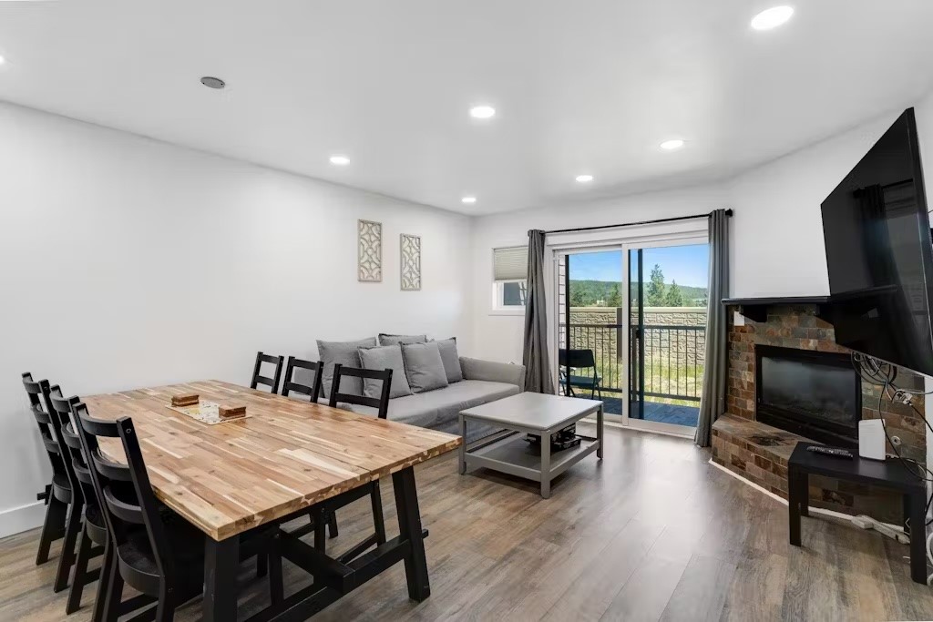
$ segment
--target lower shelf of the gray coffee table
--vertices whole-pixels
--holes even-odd
[[[550,482],[599,449],[599,439],[589,436],[580,436],[580,439],[578,447],[551,453],[550,465],[544,466],[541,460],[541,445],[532,445],[525,440],[524,433],[513,432],[490,445],[467,450],[464,470],[468,467],[483,466],[515,477]],[[550,494],[542,496],[547,498]]]

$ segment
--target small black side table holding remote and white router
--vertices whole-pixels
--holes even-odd
[[[787,460],[787,501],[790,544],[801,546],[801,515],[809,513],[810,475],[847,479],[903,494],[904,524],[911,536],[911,578],[926,585],[926,485],[896,459],[833,458],[807,451],[816,443],[798,443]],[[917,527],[919,525],[919,528]]]

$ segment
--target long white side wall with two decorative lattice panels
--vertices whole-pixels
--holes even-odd
[[[258,350],[319,338],[469,348],[466,216],[8,104],[0,137],[0,535],[38,524],[49,477],[21,372],[94,394],[244,383]],[[383,283],[356,281],[357,218],[383,223]],[[402,232],[421,292],[399,291]]]

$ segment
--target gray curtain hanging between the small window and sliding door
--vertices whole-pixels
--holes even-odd
[[[548,304],[544,299],[544,231],[528,231],[528,294],[522,363],[525,391],[554,393],[548,356]]]

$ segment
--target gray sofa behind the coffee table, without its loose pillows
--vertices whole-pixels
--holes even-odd
[[[391,336],[381,337],[384,339]],[[380,341],[383,342],[383,339],[380,339]],[[324,361],[326,369],[328,365],[332,366],[334,362],[345,364],[343,360],[340,360],[340,353],[333,354],[333,346],[341,343],[349,345],[350,343],[359,344],[361,342],[318,342],[320,358]],[[349,352],[342,352],[344,357],[348,354]],[[344,358],[344,360],[346,359]],[[459,434],[458,415],[461,410],[480,406],[480,404],[486,404],[524,391],[525,368],[522,365],[495,363],[466,356],[455,357],[455,360],[459,361],[463,380],[452,380],[439,389],[401,395],[390,399],[388,419],[431,428],[440,432]],[[395,374],[400,372],[404,373],[399,369],[395,371]],[[448,377],[450,376],[451,374],[448,373]],[[326,371],[325,387],[327,387],[328,380]],[[395,382],[393,384],[395,385]],[[341,385],[342,391],[343,387]],[[327,398],[322,397],[321,402],[327,403]],[[350,404],[339,404],[338,406],[361,414],[376,416],[375,408]],[[495,431],[494,428],[470,426],[465,440],[467,443],[472,443]]]

